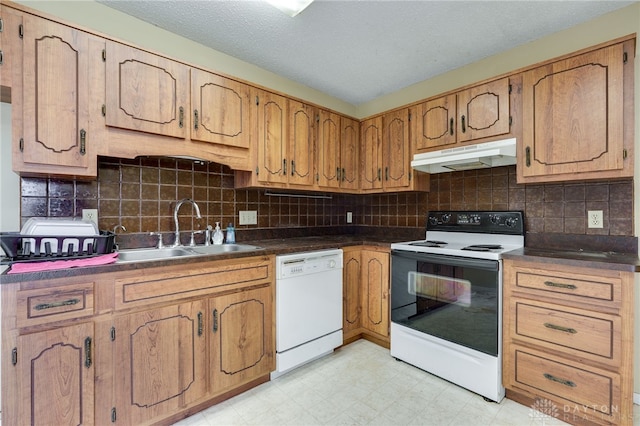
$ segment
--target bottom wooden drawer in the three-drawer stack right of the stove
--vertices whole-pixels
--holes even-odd
[[[620,377],[599,369],[576,367],[575,362],[516,348],[514,385],[543,395],[557,406],[561,420],[579,415],[598,422],[619,416]],[[569,416],[569,417],[567,417]],[[575,419],[574,419],[575,420]]]

